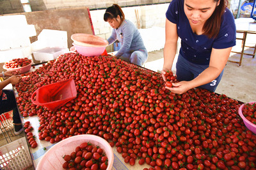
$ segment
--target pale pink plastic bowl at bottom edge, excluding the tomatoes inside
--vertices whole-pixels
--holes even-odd
[[[114,153],[109,145],[109,143],[97,136],[97,135],[75,135],[68,137],[59,143],[56,143],[52,148],[50,148],[44,156],[40,159],[36,169],[63,169],[63,163],[65,160],[62,158],[64,155],[70,155],[72,151],[76,150],[76,147],[81,143],[90,142],[95,146],[99,146],[102,150],[105,151],[106,156],[108,157],[108,167],[107,169],[112,169],[114,161]]]

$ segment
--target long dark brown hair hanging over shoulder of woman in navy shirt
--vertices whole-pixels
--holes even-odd
[[[227,8],[228,1],[227,0],[213,0],[220,4],[216,6],[214,12],[212,13],[211,17],[206,20],[203,31],[204,35],[208,36],[209,38],[216,38],[220,32],[220,25],[221,25],[221,17]]]

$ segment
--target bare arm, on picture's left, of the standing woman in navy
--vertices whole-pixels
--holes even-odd
[[[170,22],[170,20],[166,19],[165,23],[165,43],[164,43],[164,65],[162,70],[162,76],[164,81],[166,81],[166,77],[164,76],[166,71],[172,70],[173,60],[175,58],[175,54],[177,52],[177,26]]]

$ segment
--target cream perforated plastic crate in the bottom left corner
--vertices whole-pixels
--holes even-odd
[[[27,169],[32,165],[25,137],[0,148],[0,169]]]

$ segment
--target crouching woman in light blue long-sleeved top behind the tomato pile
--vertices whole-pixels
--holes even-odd
[[[131,21],[125,19],[120,6],[113,4],[113,6],[108,7],[104,14],[104,20],[113,27],[112,34],[108,38],[109,45],[116,40],[122,43],[122,47],[115,54],[115,57],[135,65],[143,65],[148,58],[147,49],[139,30]]]

